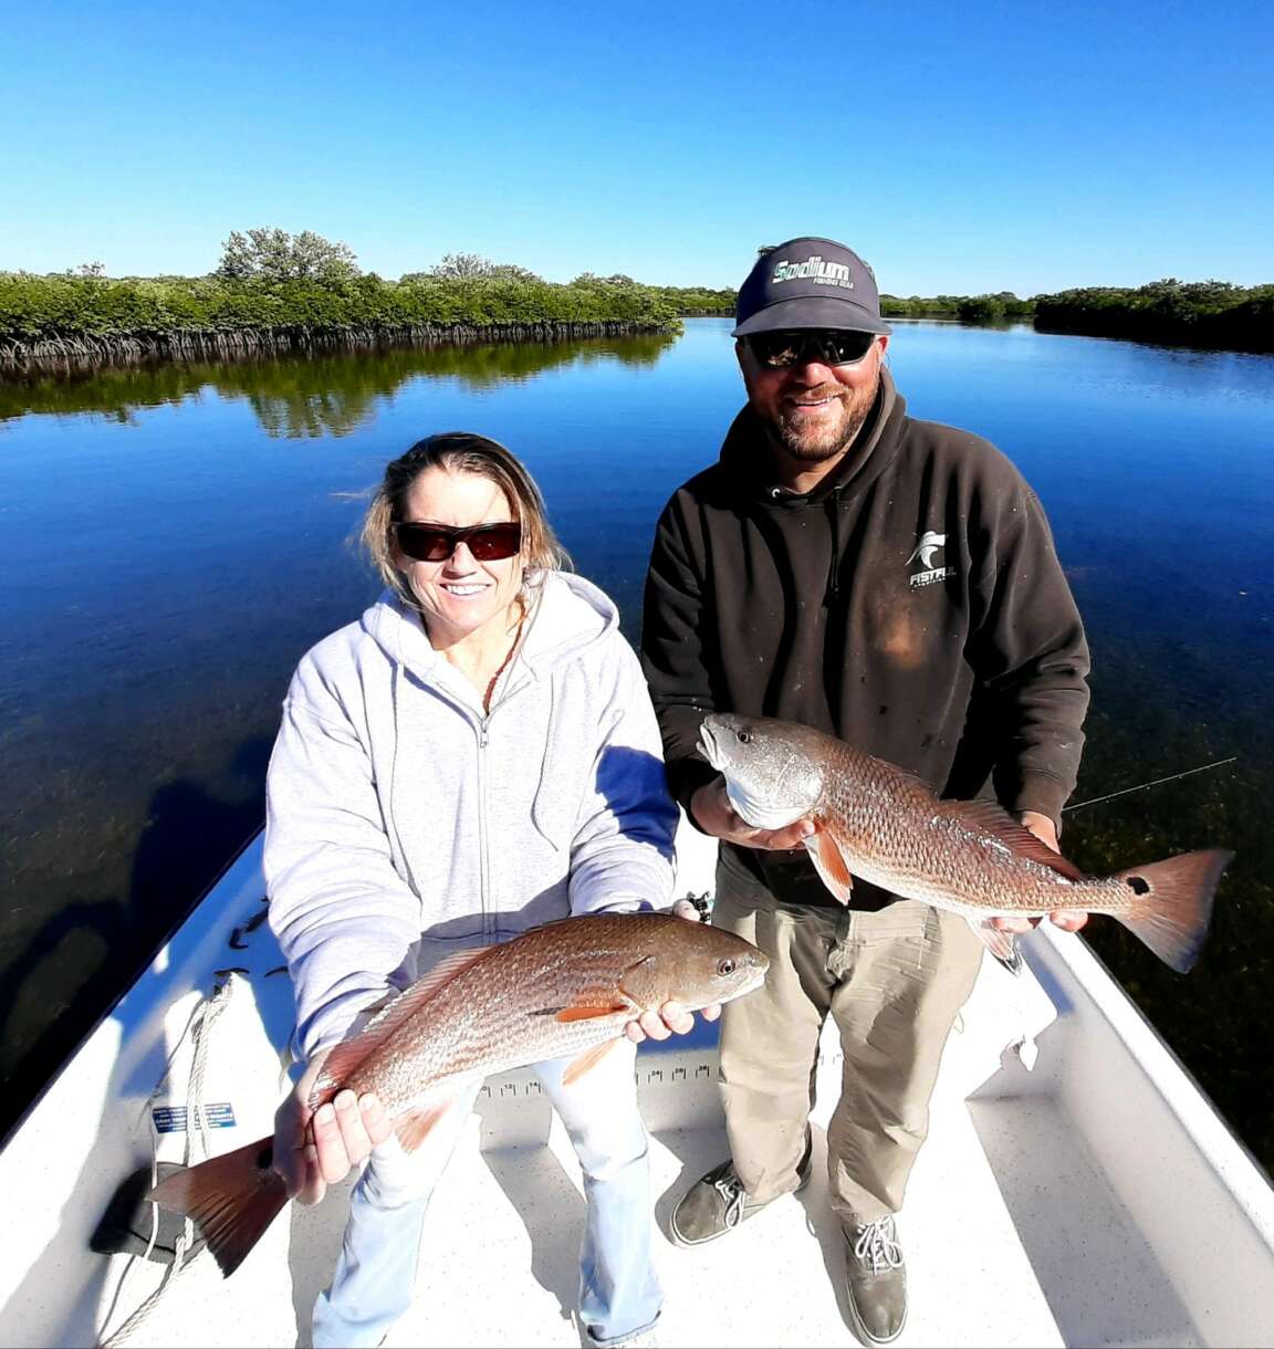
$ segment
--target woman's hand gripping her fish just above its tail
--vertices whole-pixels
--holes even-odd
[[[393,1132],[393,1122],[377,1097],[355,1098],[348,1089],[310,1112],[309,1094],[327,1051],[309,1060],[301,1081],[274,1116],[274,1170],[287,1186],[287,1198],[317,1203],[329,1184],[344,1180],[350,1168]]]

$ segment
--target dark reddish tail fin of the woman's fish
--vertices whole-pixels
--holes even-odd
[[[287,1203],[287,1187],[273,1160],[274,1140],[259,1139],[175,1171],[146,1198],[193,1218],[221,1273],[229,1278]]]

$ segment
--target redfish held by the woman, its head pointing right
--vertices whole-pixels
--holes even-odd
[[[750,942],[669,913],[601,913],[463,951],[413,983],[336,1045],[314,1085],[374,1091],[409,1152],[467,1085],[578,1055],[586,1072],[629,1021],[664,1002],[699,1010],[758,987],[769,958]],[[162,1180],[150,1194],[193,1218],[224,1275],[238,1269],[287,1202],[260,1139]]]

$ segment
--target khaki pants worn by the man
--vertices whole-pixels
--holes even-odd
[[[897,1213],[981,942],[962,917],[912,900],[879,913],[781,905],[725,850],[713,923],[771,960],[764,986],[726,1004],[721,1020],[726,1128],[744,1188],[757,1202],[796,1188],[831,1016],[845,1051],[827,1128],[831,1207],[848,1224]]]

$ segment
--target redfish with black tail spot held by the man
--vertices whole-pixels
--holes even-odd
[[[1208,849],[1085,876],[993,801],[941,800],[914,774],[808,726],[714,712],[703,720],[699,749],[753,828],[815,823],[806,847],[842,902],[857,876],[951,909],[1015,973],[1014,936],[988,919],[1057,909],[1108,913],[1185,973],[1198,959],[1217,881],[1234,857]]]

